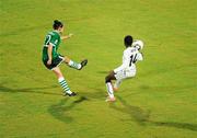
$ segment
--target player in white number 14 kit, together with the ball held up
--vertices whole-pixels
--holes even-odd
[[[126,49],[123,55],[123,65],[109,72],[105,78],[106,89],[108,92],[107,102],[114,102],[114,91],[119,88],[119,84],[124,79],[132,78],[136,76],[136,62],[142,60],[142,54],[140,50],[143,48],[142,41],[134,41],[132,36],[127,35],[124,39]],[[112,80],[116,80],[113,85]]]

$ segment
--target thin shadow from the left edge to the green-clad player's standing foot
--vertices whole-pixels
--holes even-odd
[[[10,93],[39,93],[39,94],[51,94],[51,95],[61,95],[61,93],[49,93],[49,92],[44,92],[42,90],[47,90],[47,89],[53,89],[57,88],[57,85],[51,85],[51,87],[42,87],[42,88],[7,88],[3,85],[0,85],[0,93],[1,92],[10,92]]]

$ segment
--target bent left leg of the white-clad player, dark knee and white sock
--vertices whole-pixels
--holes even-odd
[[[113,90],[113,84],[112,84],[112,80],[116,80],[114,74],[115,74],[114,71],[111,71],[109,74],[105,77],[105,84],[106,84],[106,89],[108,93],[108,99],[106,100],[107,102],[115,101],[114,90]]]

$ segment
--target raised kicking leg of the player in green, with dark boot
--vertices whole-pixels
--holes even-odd
[[[88,64],[88,59],[84,59],[84,60],[81,61],[81,64],[79,64],[79,62],[76,62],[76,61],[71,60],[68,57],[63,57],[63,61],[68,66],[70,66],[71,68],[74,68],[74,69],[78,69],[78,70],[81,70]]]

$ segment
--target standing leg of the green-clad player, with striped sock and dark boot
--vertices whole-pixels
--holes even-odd
[[[61,88],[63,89],[65,94],[66,94],[66,95],[69,95],[69,96],[74,96],[76,93],[72,92],[72,91],[70,91],[70,88],[68,87],[67,81],[65,80],[65,78],[63,78],[63,76],[62,76],[61,70],[59,69],[59,67],[53,68],[53,72],[57,76],[58,82],[59,82],[59,84],[61,85]]]

